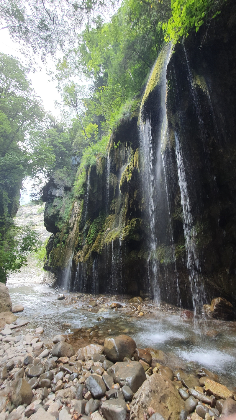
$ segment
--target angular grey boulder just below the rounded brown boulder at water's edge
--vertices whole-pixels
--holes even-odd
[[[127,385],[133,392],[146,380],[145,370],[140,362],[117,362],[109,367],[107,373],[113,377],[114,383]]]

